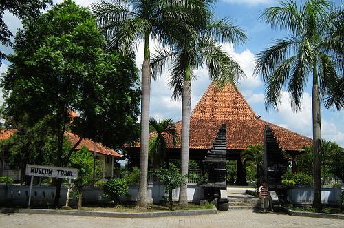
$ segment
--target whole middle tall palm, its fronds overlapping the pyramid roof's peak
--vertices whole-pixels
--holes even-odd
[[[235,85],[239,76],[244,72],[232,57],[222,50],[218,42],[229,41],[233,44],[244,43],[246,35],[227,19],[213,21],[210,6],[213,1],[203,1],[200,10],[206,17],[191,17],[188,23],[195,28],[195,37],[177,37],[178,43],[170,50],[160,48],[153,56],[153,69],[161,74],[164,61],[173,61],[171,67],[170,87],[173,89],[173,99],[182,99],[182,142],[181,142],[181,173],[185,177],[180,186],[179,203],[187,205],[187,174],[189,164],[189,132],[191,114],[191,79],[196,76],[192,70],[208,66],[209,76],[221,88],[225,83]],[[189,12],[197,15],[195,10]]]

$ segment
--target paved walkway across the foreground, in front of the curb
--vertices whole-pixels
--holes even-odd
[[[215,215],[163,218],[104,218],[44,214],[0,214],[0,227],[344,227],[344,220],[232,210]]]

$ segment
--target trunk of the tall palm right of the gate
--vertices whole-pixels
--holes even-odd
[[[320,116],[320,93],[318,85],[318,75],[316,72],[316,62],[313,65],[313,89],[312,89],[312,115],[313,115],[313,181],[314,198],[313,207],[316,211],[321,211],[321,170],[319,149],[321,143],[321,116]]]

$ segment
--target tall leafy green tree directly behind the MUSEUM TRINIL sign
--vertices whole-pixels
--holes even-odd
[[[69,127],[80,140],[92,138],[112,148],[133,140],[140,100],[135,63],[103,51],[103,34],[87,9],[66,0],[23,25],[9,57],[12,65],[1,81],[7,94],[1,110],[6,122],[25,132],[49,116],[45,127],[56,140],[56,166],[67,165],[80,143],[63,153]],[[72,119],[71,111],[78,117]],[[56,207],[60,189],[58,179]]]

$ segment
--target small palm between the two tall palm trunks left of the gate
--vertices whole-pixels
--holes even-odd
[[[175,123],[171,118],[162,121],[156,121],[154,118],[149,118],[149,125],[153,127],[155,132],[149,138],[149,156],[154,169],[159,169],[162,162],[166,163],[166,149],[167,140],[170,137],[173,141],[173,146],[177,145],[178,133],[175,128]]]

